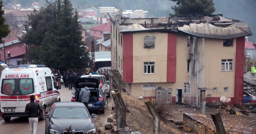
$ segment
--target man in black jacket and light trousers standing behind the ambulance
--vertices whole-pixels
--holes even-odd
[[[30,103],[26,104],[26,108],[25,108],[25,113],[28,114],[30,134],[36,134],[38,118],[43,111],[39,103],[34,101],[35,101],[35,96],[31,95]]]

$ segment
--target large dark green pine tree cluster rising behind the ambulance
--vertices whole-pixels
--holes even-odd
[[[75,13],[74,13],[75,12]],[[70,0],[47,2],[47,7],[29,16],[32,26],[26,34],[27,42],[34,43],[29,49],[31,62],[64,71],[82,69],[89,60],[80,32],[78,13]],[[36,52],[38,55],[34,55]]]

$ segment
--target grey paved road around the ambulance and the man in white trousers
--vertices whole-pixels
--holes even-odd
[[[72,97],[72,90],[68,90],[62,85],[60,89],[61,101],[70,101]],[[38,121],[37,134],[44,134],[45,132],[45,121]],[[0,118],[0,134],[29,134],[30,127],[28,123],[28,117],[12,117],[10,122],[5,122]]]

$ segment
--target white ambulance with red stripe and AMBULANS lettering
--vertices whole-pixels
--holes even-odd
[[[30,96],[43,108],[40,117],[50,110],[54,102],[60,101],[60,92],[56,85],[53,72],[44,65],[18,65],[4,69],[0,77],[0,115],[4,121],[11,117],[28,116],[25,114],[26,104]]]

